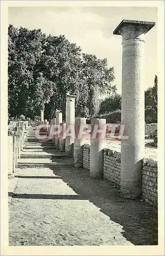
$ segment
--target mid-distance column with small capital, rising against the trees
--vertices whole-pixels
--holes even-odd
[[[70,125],[75,125],[75,95],[66,95],[66,132]],[[75,129],[75,127],[74,127]],[[65,138],[65,152],[69,155],[73,154],[74,139],[71,136]]]

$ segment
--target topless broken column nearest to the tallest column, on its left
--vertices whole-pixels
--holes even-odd
[[[101,130],[102,133],[96,133],[97,130]],[[106,119],[92,118],[90,133],[90,177],[93,179],[103,178],[103,149],[105,145]]]

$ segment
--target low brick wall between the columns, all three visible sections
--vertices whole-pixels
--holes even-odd
[[[83,146],[83,168],[90,170],[90,146]],[[103,178],[120,187],[121,182],[121,153],[104,148]],[[157,205],[157,161],[143,159],[142,169],[142,198]]]

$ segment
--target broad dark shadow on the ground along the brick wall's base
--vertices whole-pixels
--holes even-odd
[[[121,198],[119,189],[105,180],[92,180],[89,172],[77,168],[54,168],[81,199],[89,200],[110,220],[123,226],[123,236],[134,245],[157,245],[157,210],[146,202]]]

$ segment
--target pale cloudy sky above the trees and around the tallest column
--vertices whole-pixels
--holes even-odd
[[[156,22],[145,35],[145,90],[157,74],[157,8],[155,7],[9,7],[9,24],[65,35],[82,52],[107,58],[114,67],[117,93],[122,91],[122,36],[113,35],[123,19]]]

